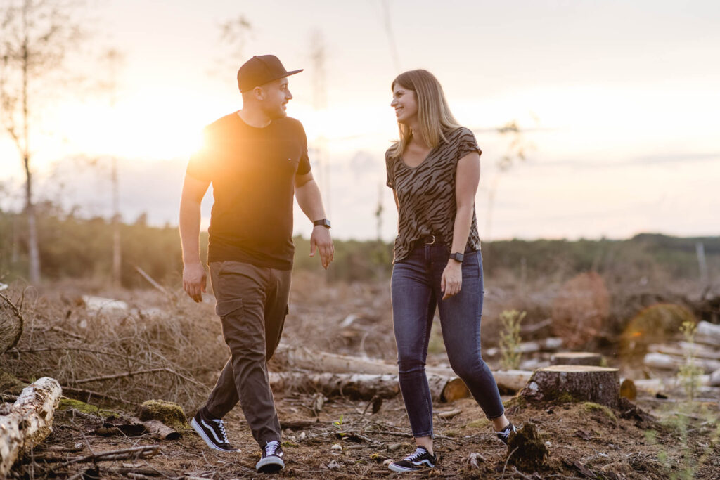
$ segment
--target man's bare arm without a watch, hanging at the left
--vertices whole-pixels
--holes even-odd
[[[200,261],[200,203],[210,181],[185,176],[180,198],[180,243],[182,245],[182,286],[195,302],[202,302],[207,274]]]

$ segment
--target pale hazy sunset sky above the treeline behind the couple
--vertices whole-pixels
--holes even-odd
[[[485,240],[719,235],[717,1],[95,0],[86,14],[95,50],[125,55],[115,107],[107,95],[64,96],[43,112],[35,143],[37,196],[86,214],[108,214],[107,175],[68,158],[115,155],[125,219],[145,211],[176,224],[200,130],[241,107],[238,66],[274,53],[305,68],[290,79],[288,113],[325,147],[312,166],[336,237],[375,237],[379,198],[382,237],[395,235],[383,153],[397,138],[390,82],[411,68],[436,74],[484,150],[476,206]],[[220,24],[240,15],[251,30],[238,55]],[[325,45],[324,73],[310,58],[313,36]],[[90,54],[74,61],[106,75]],[[527,158],[498,173],[513,138],[493,129],[512,120],[526,130]],[[8,207],[22,171],[7,137],[0,162]],[[299,209],[295,225],[310,231]]]

